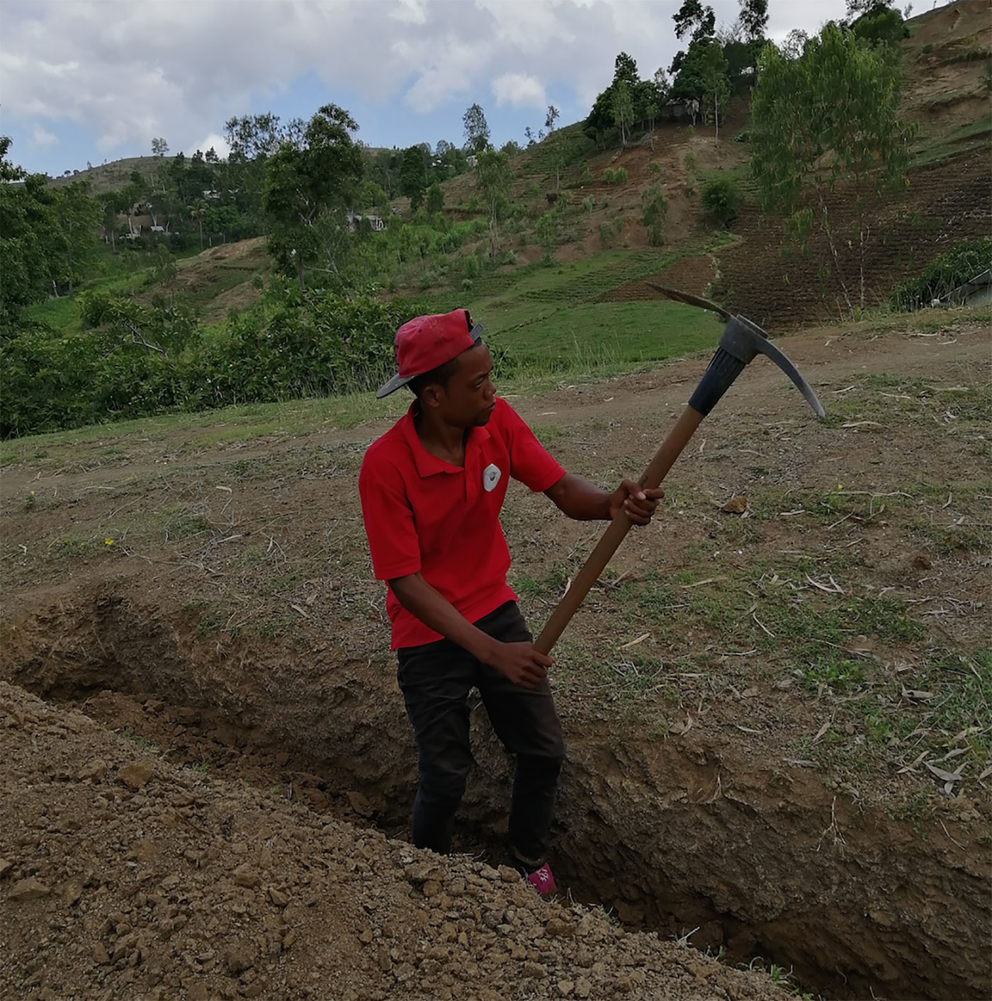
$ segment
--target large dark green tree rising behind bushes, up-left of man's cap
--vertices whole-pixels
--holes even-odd
[[[361,149],[351,137],[354,119],[325,104],[303,129],[301,142],[284,141],[269,158],[262,206],[273,220],[269,249],[305,288],[303,269],[322,254],[337,275],[337,256],[347,233],[346,206],[364,173]]]

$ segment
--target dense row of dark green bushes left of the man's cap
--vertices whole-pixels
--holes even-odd
[[[392,370],[394,331],[413,315],[282,279],[209,339],[179,307],[100,308],[95,330],[22,325],[3,340],[0,435],[365,388]]]

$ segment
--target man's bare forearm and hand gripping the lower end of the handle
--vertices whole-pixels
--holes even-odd
[[[533,689],[555,662],[534,649],[531,643],[501,643],[465,619],[419,574],[392,578],[389,582],[396,601],[416,616],[424,626],[468,651],[521,688]]]

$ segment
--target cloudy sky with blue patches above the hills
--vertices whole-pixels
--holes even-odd
[[[550,102],[588,113],[626,51],[641,74],[681,47],[682,0],[3,0],[0,131],[12,158],[60,174],[215,146],[232,115],[308,118],[331,101],[372,146],[462,141],[477,101],[492,139],[523,141]],[[712,0],[718,25],[738,0]],[[769,34],[816,31],[845,0],[770,0]]]

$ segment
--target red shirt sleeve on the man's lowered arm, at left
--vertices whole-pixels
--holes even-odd
[[[358,494],[376,580],[417,573],[420,543],[403,478],[375,449],[366,452],[361,463]]]

